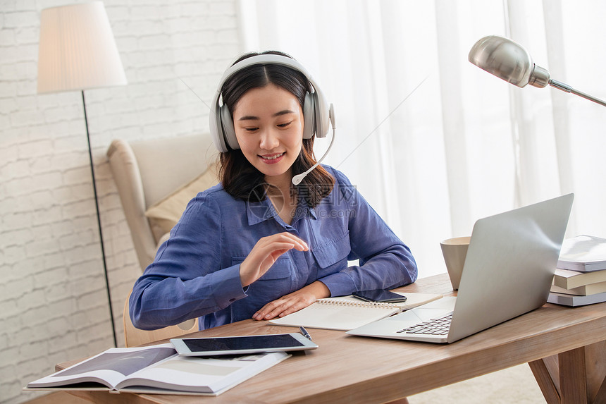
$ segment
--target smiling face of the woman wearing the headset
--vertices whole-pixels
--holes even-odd
[[[268,180],[290,180],[290,167],[301,152],[303,122],[297,97],[273,84],[247,91],[233,111],[242,153]]]

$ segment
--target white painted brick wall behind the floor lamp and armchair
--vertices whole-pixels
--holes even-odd
[[[80,92],[37,94],[39,14],[81,0],[0,0],[0,403],[113,345]],[[240,52],[235,0],[107,0],[128,85],[85,92],[113,317],[140,269],[105,152],[111,140],[202,133]]]

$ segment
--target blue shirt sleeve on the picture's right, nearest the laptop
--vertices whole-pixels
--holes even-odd
[[[417,267],[409,247],[393,233],[350,180],[338,170],[335,190],[340,192],[340,209],[347,212],[347,231],[353,265],[330,274],[322,281],[332,296],[350,295],[355,290],[391,289],[416,281]]]

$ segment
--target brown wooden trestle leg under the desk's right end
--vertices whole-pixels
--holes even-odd
[[[606,404],[606,341],[528,365],[548,404]]]

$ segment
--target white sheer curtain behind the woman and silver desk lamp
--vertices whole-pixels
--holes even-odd
[[[606,236],[606,109],[519,89],[467,61],[511,37],[552,78],[606,99],[602,0],[242,0],[243,51],[299,60],[335,105],[326,163],[407,243],[420,276],[476,219],[575,192],[568,235]],[[321,156],[328,140],[316,142]]]

